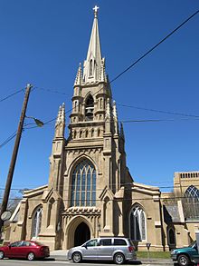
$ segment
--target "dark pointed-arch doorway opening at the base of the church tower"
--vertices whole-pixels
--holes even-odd
[[[80,246],[90,240],[90,228],[85,222],[81,222],[74,233],[74,246]]]

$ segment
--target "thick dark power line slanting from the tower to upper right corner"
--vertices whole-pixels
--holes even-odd
[[[183,23],[181,23],[181,25],[178,25],[170,34],[167,34],[165,38],[163,38],[158,44],[154,45],[151,49],[149,49],[147,51],[147,53],[143,54],[141,57],[139,57],[137,59],[137,61],[135,61],[133,64],[130,64],[124,71],[122,71],[120,74],[118,74],[114,79],[112,79],[109,84],[115,82],[122,74],[125,74],[126,72],[128,72],[128,70],[133,67],[135,64],[137,64],[139,61],[141,61],[143,58],[145,58],[147,56],[147,54],[150,54],[153,50],[156,49],[157,46],[159,46],[160,44],[162,44],[163,42],[166,41],[167,38],[169,38],[172,34],[175,34],[175,32],[180,29],[183,25],[185,25],[191,18],[194,17],[194,15],[197,15],[199,13],[199,10],[197,10],[193,15],[190,15],[187,19],[185,19],[185,21]]]

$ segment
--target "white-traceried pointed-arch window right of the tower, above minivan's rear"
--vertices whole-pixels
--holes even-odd
[[[146,214],[140,206],[134,207],[130,212],[130,238],[133,241],[146,241],[147,228],[146,228]]]

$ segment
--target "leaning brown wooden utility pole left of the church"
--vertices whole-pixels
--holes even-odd
[[[20,143],[21,136],[22,136],[25,112],[26,112],[26,108],[27,108],[27,104],[28,104],[28,99],[29,99],[29,95],[30,95],[30,92],[31,92],[31,88],[32,88],[32,85],[31,84],[27,84],[26,89],[25,89],[25,94],[24,94],[24,103],[23,103],[22,113],[21,113],[19,124],[18,124],[18,129],[17,129],[17,133],[16,133],[15,142],[14,142],[13,155],[12,155],[12,159],[11,159],[11,163],[10,163],[10,167],[9,167],[9,172],[7,174],[7,180],[6,180],[6,184],[5,184],[5,193],[4,193],[4,198],[3,198],[3,201],[2,201],[1,211],[0,211],[0,240],[1,240],[2,228],[4,226],[4,221],[2,220],[1,217],[2,217],[2,214],[6,211],[6,208],[7,208],[7,202],[8,202],[8,199],[9,199],[11,184],[12,184],[12,181],[13,181],[14,166],[15,166],[15,163],[16,163],[17,153],[18,153],[18,150],[19,150],[19,143]]]

